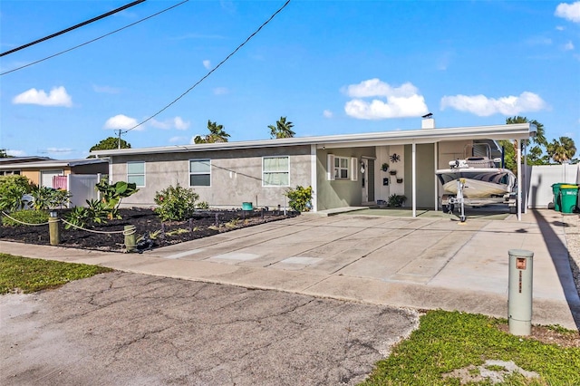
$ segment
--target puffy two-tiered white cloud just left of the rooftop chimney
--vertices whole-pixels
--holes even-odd
[[[400,87],[391,87],[388,83],[374,78],[358,84],[351,84],[343,88],[348,96],[344,111],[347,115],[360,120],[383,120],[388,118],[417,117],[426,114],[429,110],[425,99],[412,83],[407,82]],[[362,98],[382,97],[372,101],[363,101]]]

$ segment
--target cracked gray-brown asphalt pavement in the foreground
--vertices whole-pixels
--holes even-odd
[[[0,296],[0,384],[356,384],[417,323],[388,306],[114,272]]]

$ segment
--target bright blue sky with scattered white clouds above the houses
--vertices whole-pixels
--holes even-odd
[[[87,157],[114,130],[166,107],[285,1],[148,0],[0,58],[0,149]],[[0,3],[4,53],[131,3]],[[11,72],[12,71],[12,72]],[[123,134],[133,148],[192,143],[217,121],[265,140],[281,116],[297,137],[505,123],[580,145],[580,1],[304,1],[289,5],[207,79]]]

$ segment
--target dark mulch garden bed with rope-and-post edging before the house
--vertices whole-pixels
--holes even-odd
[[[122,231],[128,225],[135,226],[137,238],[140,239],[137,247],[141,251],[297,215],[295,212],[286,212],[285,215],[283,211],[198,210],[194,217],[187,221],[162,222],[160,217],[149,208],[122,208],[120,213],[122,219],[109,220],[105,224],[93,224],[87,228],[98,232],[115,232]],[[65,216],[66,211],[59,214],[59,217],[65,218]],[[61,223],[60,238],[60,246],[125,252],[125,236],[121,233],[94,233],[73,227],[65,229]],[[50,245],[47,225],[40,227],[0,226],[0,239],[25,244]]]

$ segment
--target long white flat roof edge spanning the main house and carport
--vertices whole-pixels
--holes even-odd
[[[342,134],[314,137],[295,137],[275,140],[246,140],[237,142],[200,143],[154,148],[95,150],[96,157],[140,154],[176,153],[208,150],[241,150],[275,148],[285,146],[315,145],[317,148],[364,147],[382,145],[406,145],[411,143],[435,143],[442,140],[527,140],[536,135],[536,126],[530,123],[511,125],[469,126],[420,130],[379,131],[360,134]]]

